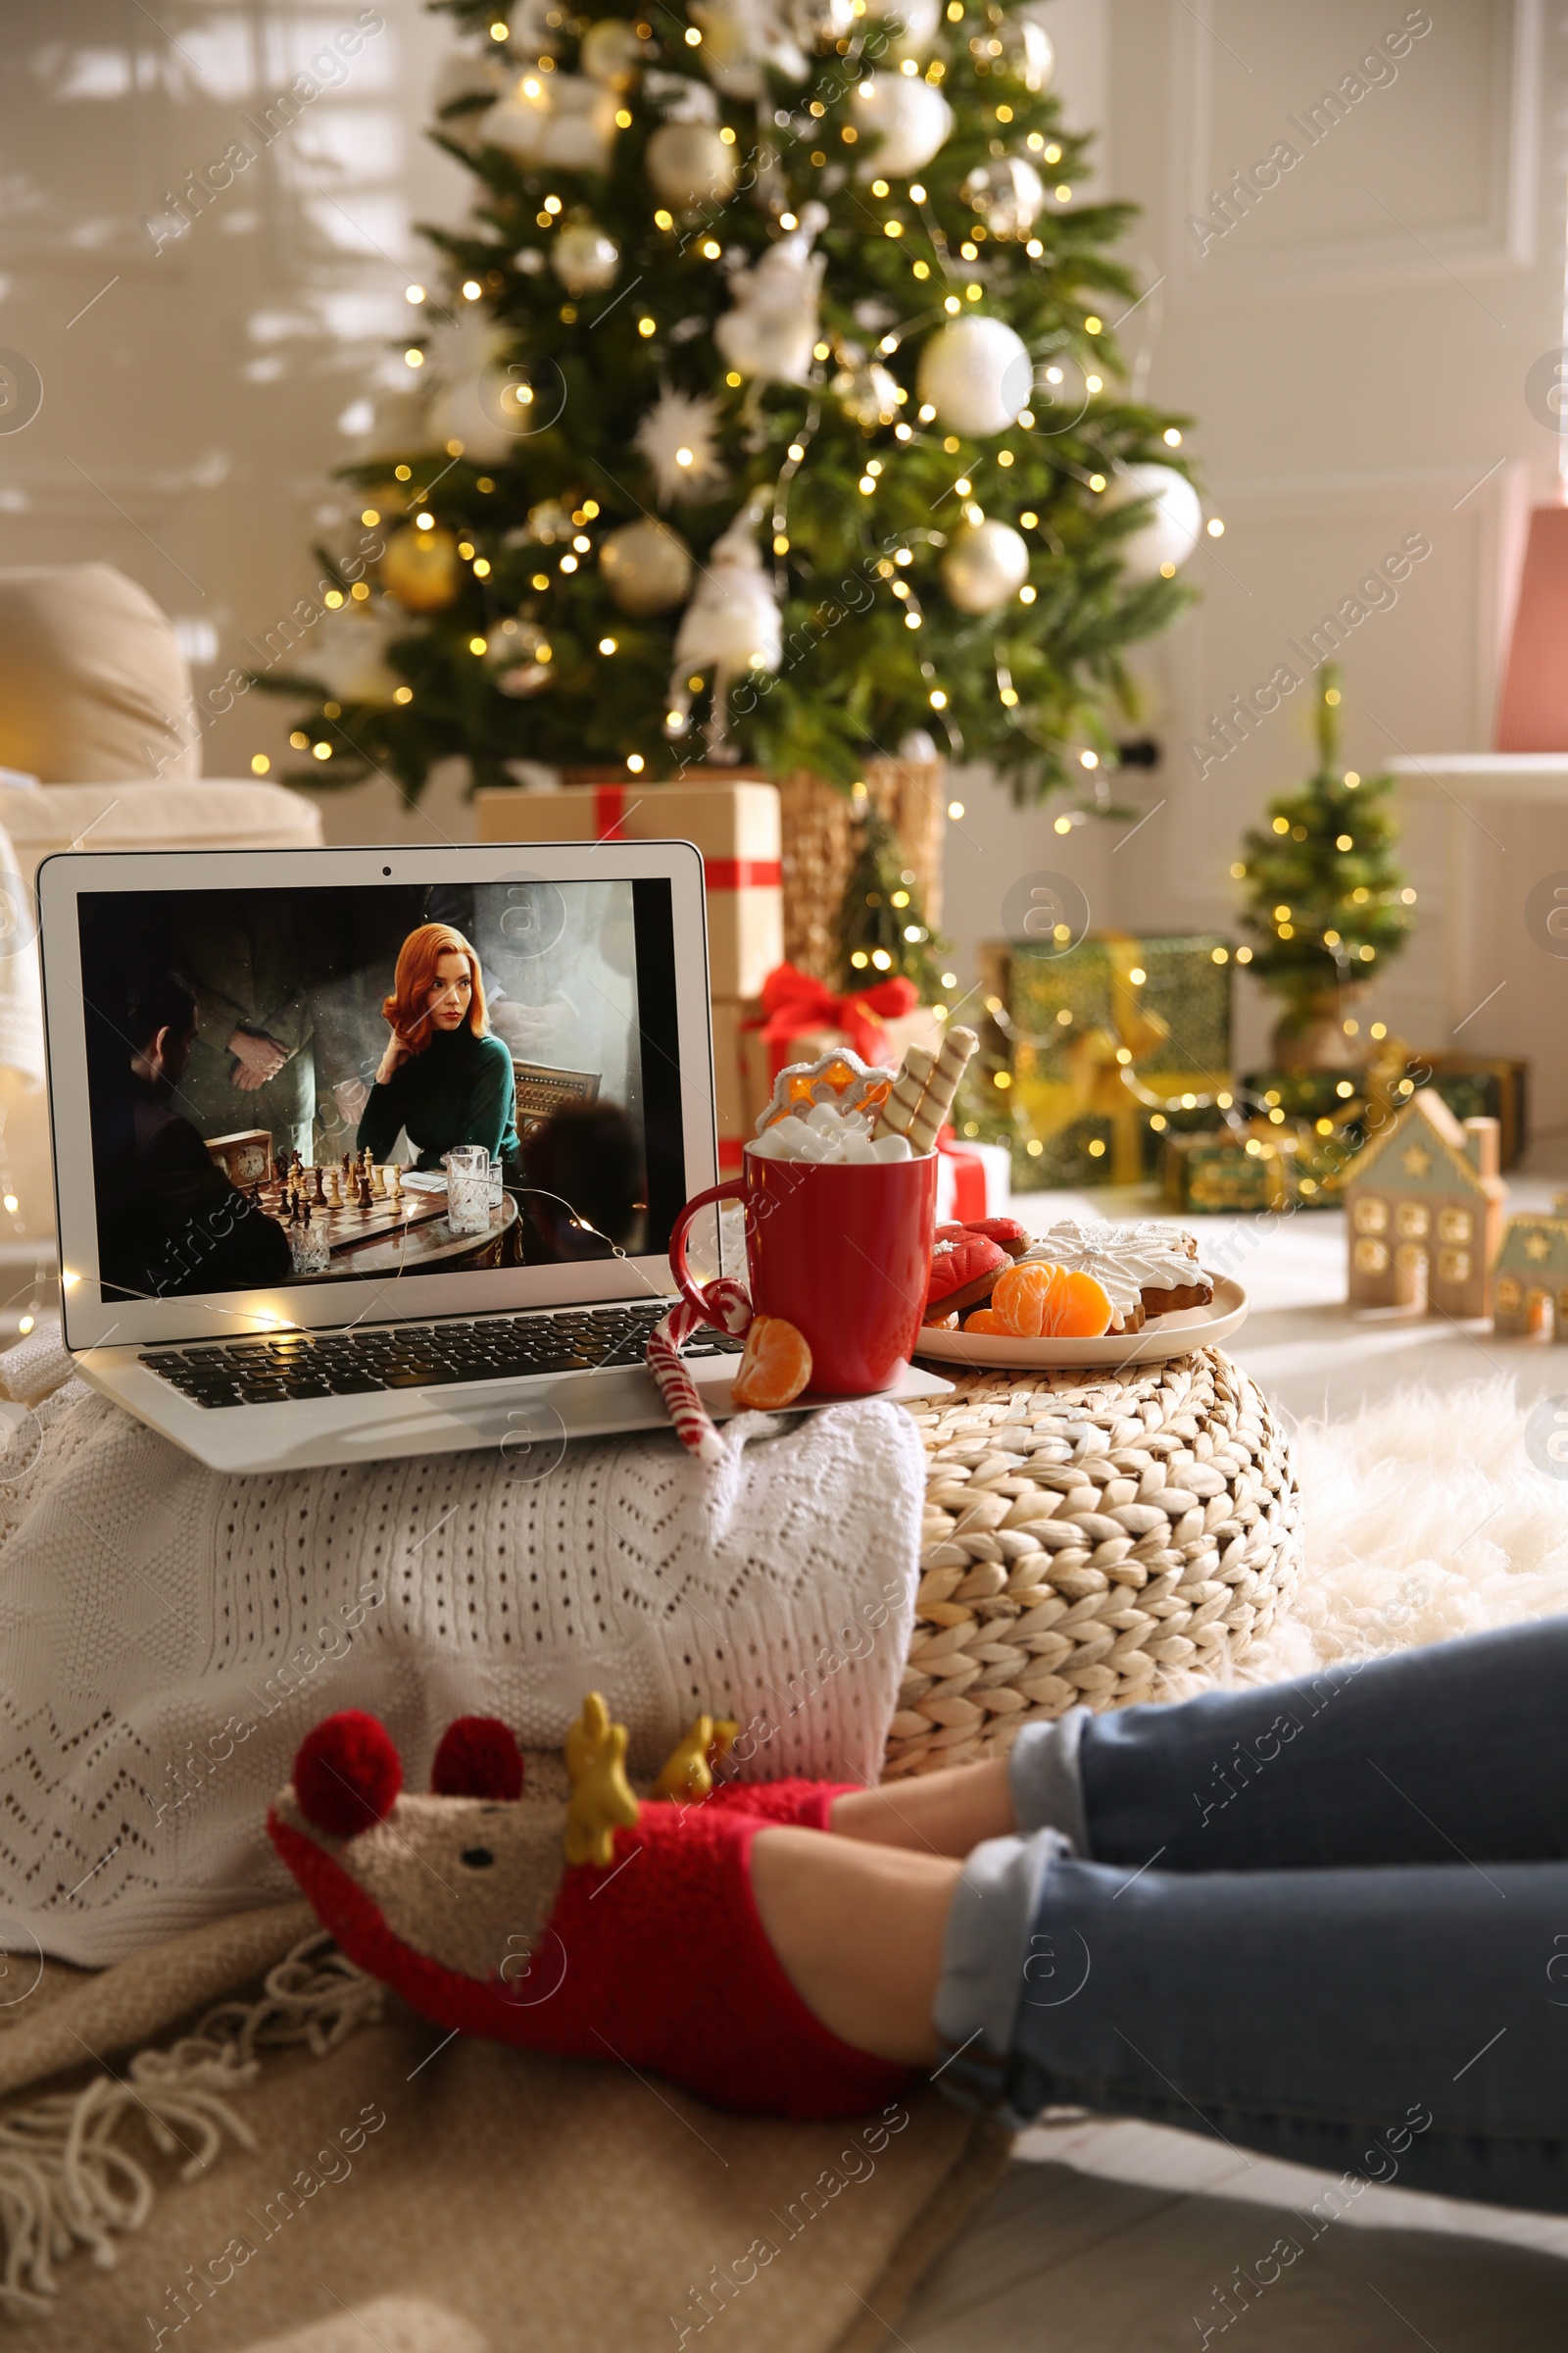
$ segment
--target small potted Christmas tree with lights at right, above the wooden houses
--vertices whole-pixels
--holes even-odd
[[[1394,856],[1392,776],[1340,765],[1340,673],[1316,673],[1316,772],[1269,802],[1269,828],[1244,840],[1232,875],[1248,885],[1253,972],[1284,998],[1281,1068],[1342,1056],[1342,1007],[1403,946],[1415,892]],[[1340,1040],[1340,1045],[1335,1045]]]

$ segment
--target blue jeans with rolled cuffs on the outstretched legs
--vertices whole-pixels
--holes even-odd
[[[947,1927],[959,2099],[1568,2212],[1568,1619],[1074,1708],[1011,1784]]]

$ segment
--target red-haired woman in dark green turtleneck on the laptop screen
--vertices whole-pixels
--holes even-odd
[[[489,1033],[480,958],[463,934],[449,922],[409,932],[381,1012],[393,1035],[357,1151],[386,1160],[402,1127],[421,1169],[437,1169],[456,1144],[482,1144],[491,1160],[515,1162],[512,1056]]]

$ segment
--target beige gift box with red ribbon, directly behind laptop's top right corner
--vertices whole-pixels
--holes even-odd
[[[559,793],[475,793],[482,842],[696,842],[708,880],[712,995],[755,995],[783,960],[778,788],[741,784],[569,784]]]

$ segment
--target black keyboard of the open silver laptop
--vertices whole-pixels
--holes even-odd
[[[618,1299],[602,1308],[480,1315],[473,1322],[376,1325],[348,1332],[270,1332],[263,1339],[153,1348],[141,1362],[193,1405],[282,1405],[360,1398],[374,1388],[447,1381],[517,1381],[555,1372],[642,1365],[670,1299]],[[682,1355],[738,1355],[729,1332],[693,1332]]]

